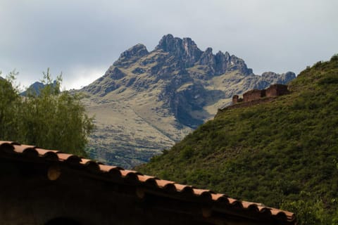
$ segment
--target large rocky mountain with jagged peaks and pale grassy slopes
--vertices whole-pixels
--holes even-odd
[[[212,118],[234,94],[294,77],[293,72],[254,75],[237,56],[201,51],[192,39],[171,34],[150,52],[137,44],[80,90],[87,110],[96,115],[89,153],[127,168],[147,162]]]

